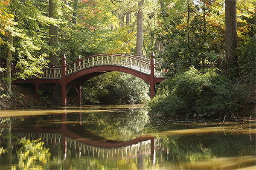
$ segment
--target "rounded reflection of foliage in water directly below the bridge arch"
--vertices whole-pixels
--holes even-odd
[[[143,134],[148,121],[147,111],[143,108],[130,108],[118,112],[98,112],[83,115],[83,127],[95,135],[115,141],[128,141]]]

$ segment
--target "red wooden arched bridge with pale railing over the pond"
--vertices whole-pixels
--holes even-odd
[[[81,105],[81,85],[83,82],[106,72],[120,71],[132,74],[148,82],[152,99],[154,85],[164,80],[164,71],[159,71],[158,69],[162,63],[156,61],[153,57],[154,54],[151,58],[148,58],[135,54],[104,53],[85,58],[78,57],[75,62],[67,64],[64,55],[61,68],[55,68],[54,66],[45,68],[42,70],[43,74],[39,74],[37,77],[31,76],[27,79],[16,79],[13,83],[32,83],[35,85],[36,91],[47,86],[48,89],[52,90],[53,96],[54,86],[60,84],[62,87],[63,106],[67,105],[67,92],[73,87],[77,92],[78,103]],[[21,70],[14,70],[14,78],[18,72],[21,72]]]

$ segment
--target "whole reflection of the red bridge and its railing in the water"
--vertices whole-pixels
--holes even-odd
[[[61,128],[59,129],[41,128],[40,122],[36,121],[34,127],[18,127],[15,128],[15,132],[13,134],[20,139],[24,137],[30,140],[41,139],[42,142],[47,144],[55,146],[61,145],[64,159],[67,158],[67,150],[73,150],[79,154],[79,157],[88,156],[99,159],[138,157],[138,164],[140,156],[151,155],[151,161],[153,163],[155,162],[156,140],[154,136],[140,136],[136,139],[125,142],[109,141],[90,132],[86,132],[87,130],[85,130],[81,125],[81,112],[79,113],[78,121],[80,123],[76,125],[75,128],[67,127],[67,113],[63,113]]]

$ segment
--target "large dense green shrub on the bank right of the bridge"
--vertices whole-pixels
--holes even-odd
[[[245,86],[232,83],[216,69],[204,71],[192,67],[161,83],[156,97],[148,102],[150,113],[219,116],[239,111]]]

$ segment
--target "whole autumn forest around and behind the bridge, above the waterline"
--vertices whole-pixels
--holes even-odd
[[[104,52],[150,57],[154,51],[169,72],[148,102],[151,113],[219,116],[247,108],[255,113],[254,0],[0,2],[1,108],[23,102],[11,86],[13,66],[23,69],[19,77],[26,79],[52,63],[61,66],[63,54],[72,62]],[[145,103],[148,89],[129,74],[103,74],[84,83],[83,104]],[[58,105],[58,97],[40,94],[42,105]],[[68,94],[70,104],[74,94]]]

